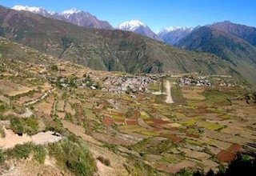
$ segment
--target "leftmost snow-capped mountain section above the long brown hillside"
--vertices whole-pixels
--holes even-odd
[[[14,6],[14,10],[26,10],[30,11],[34,14],[41,14],[42,16],[48,18],[54,18],[66,22],[70,22],[74,25],[84,26],[87,28],[98,28],[98,29],[108,29],[112,30],[113,27],[109,22],[98,20],[98,18],[94,17],[92,14],[77,10],[75,8],[70,10],[65,10],[62,13],[47,11],[42,7],[35,6]]]

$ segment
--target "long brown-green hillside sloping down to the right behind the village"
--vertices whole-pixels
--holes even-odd
[[[96,70],[130,73],[239,73],[212,55],[180,50],[121,30],[89,30],[26,11],[0,8],[0,35]]]

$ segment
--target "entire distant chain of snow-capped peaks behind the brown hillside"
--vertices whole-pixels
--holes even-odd
[[[89,12],[85,12],[82,10],[66,10],[62,13],[57,13],[53,11],[48,11],[42,7],[36,6],[14,6],[12,9],[14,10],[26,10],[35,14],[41,14],[47,18],[54,18],[58,20],[62,20],[65,22],[70,22],[74,25],[84,26],[87,28],[97,28],[97,29],[106,29],[106,30],[114,30],[114,27],[110,25],[109,22],[98,20],[94,15]],[[127,30],[134,32],[136,34],[141,34],[148,38],[153,38],[158,41],[166,42],[167,44],[174,45],[181,38],[185,37],[186,34],[190,32],[190,30],[194,28],[190,27],[181,27],[181,28],[172,28],[173,30],[167,29],[162,31],[160,34],[155,34],[149,26],[146,26],[145,23],[140,22],[139,20],[130,20],[127,22],[122,22],[115,29],[118,30]],[[167,32],[168,31],[168,32]]]

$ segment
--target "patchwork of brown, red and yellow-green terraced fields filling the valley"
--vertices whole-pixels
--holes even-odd
[[[55,163],[68,174],[75,171],[62,162],[65,156],[56,155],[57,149],[67,149],[66,140],[86,143],[92,154],[87,157],[96,161],[96,169],[91,168],[99,175],[218,170],[238,152],[255,151],[250,144],[256,142],[256,104],[252,99],[246,102],[248,90],[242,86],[189,86],[178,84],[182,74],[143,75],[151,78],[145,91],[120,93],[109,91],[106,78],[133,75],[88,70],[68,62],[57,62],[61,71],[45,66],[46,73],[37,74],[36,64],[14,64],[0,78],[0,141],[6,142],[9,134],[17,144],[35,141],[33,145],[42,145],[47,158],[58,160]],[[18,67],[26,68],[26,74]],[[17,73],[26,81],[18,82]],[[85,79],[98,88],[82,86]],[[48,130],[53,134],[44,135]],[[37,136],[41,143],[34,139]],[[5,144],[1,146],[9,154]],[[54,165],[54,170],[59,166]]]

